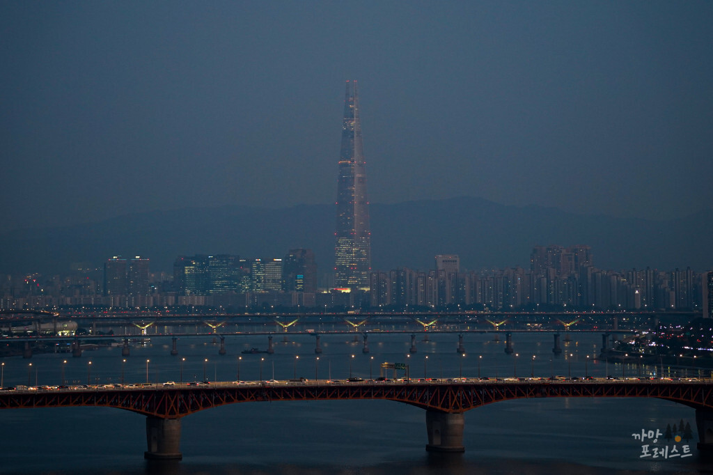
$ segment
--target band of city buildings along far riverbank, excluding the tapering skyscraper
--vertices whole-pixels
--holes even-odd
[[[588,245],[533,247],[530,266],[461,269],[460,256],[436,255],[430,268],[369,272],[367,292],[317,285],[317,262],[307,249],[284,257],[181,255],[173,280],[150,272],[149,259],[108,258],[103,285],[96,268],[71,275],[8,276],[0,309],[47,307],[369,308],[495,311],[704,311],[709,315],[713,272],[690,267],[611,270],[596,267]],[[361,289],[364,290],[364,289]]]

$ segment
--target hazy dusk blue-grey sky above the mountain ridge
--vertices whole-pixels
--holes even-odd
[[[711,1],[0,2],[5,230],[332,203],[671,218],[713,203]],[[0,230],[2,229],[0,228]]]

